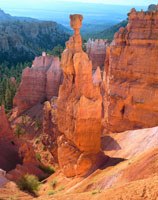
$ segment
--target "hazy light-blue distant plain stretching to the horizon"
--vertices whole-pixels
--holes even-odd
[[[14,1],[14,0],[10,0]],[[36,19],[55,21],[59,24],[70,28],[69,15],[74,13],[80,13],[83,15],[83,26],[81,29],[82,35],[85,37],[87,34],[101,32],[115,24],[118,24],[122,20],[126,19],[127,13],[133,6],[128,5],[108,5],[105,3],[87,3],[82,0],[69,2],[67,1],[22,1],[19,5],[15,6],[15,9],[11,9],[10,1],[2,1],[1,6],[14,16],[34,17]],[[103,0],[102,0],[103,2]],[[118,1],[119,4],[119,1]],[[24,9],[25,6],[27,9]],[[147,6],[134,6],[136,10],[147,10]]]

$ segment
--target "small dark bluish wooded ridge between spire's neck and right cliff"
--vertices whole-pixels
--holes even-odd
[[[109,39],[113,40],[114,34],[119,30],[120,27],[125,27],[127,25],[128,21],[124,20],[120,22],[119,24],[116,24],[102,32],[99,32],[93,36],[93,38],[102,38],[102,39]]]

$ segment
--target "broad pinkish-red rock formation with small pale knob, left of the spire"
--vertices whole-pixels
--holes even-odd
[[[45,53],[36,57],[32,67],[24,69],[20,87],[14,97],[14,106],[18,108],[18,113],[58,96],[61,80],[59,58]]]

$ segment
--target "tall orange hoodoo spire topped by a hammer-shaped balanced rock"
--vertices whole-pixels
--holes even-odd
[[[84,176],[104,162],[100,152],[100,87],[93,84],[92,63],[82,50],[83,17],[71,15],[70,19],[74,35],[62,54],[64,80],[57,102],[57,123],[62,134],[58,138],[58,159],[67,177]]]

